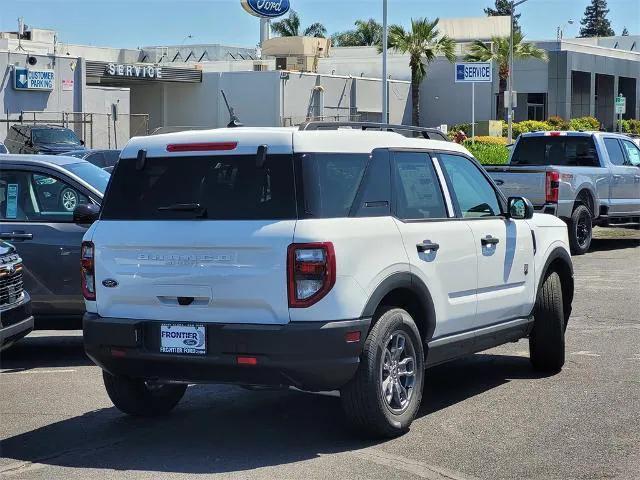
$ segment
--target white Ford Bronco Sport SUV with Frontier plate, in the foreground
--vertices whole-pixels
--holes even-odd
[[[340,390],[393,436],[427,367],[528,337],[535,368],[562,368],[566,225],[463,147],[386,127],[129,141],[82,248],[85,348],[116,407],[166,413],[192,383]]]

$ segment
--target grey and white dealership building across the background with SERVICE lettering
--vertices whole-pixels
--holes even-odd
[[[470,42],[508,33],[508,17],[442,19],[462,59]],[[536,42],[547,62],[516,61],[515,120],[592,115],[614,125],[614,97],[624,118],[640,117],[640,37]],[[388,57],[389,114],[411,121],[409,60]],[[291,37],[262,48],[227,45],[119,49],[57,42],[51,30],[0,33],[0,141],[15,122],[73,128],[89,146],[121,147],[132,135],[180,128],[297,125],[310,119],[379,121],[381,56],[375,47],[335,48],[324,39]],[[421,124],[471,120],[471,85],[454,83],[444,58],[428,66],[420,87]],[[476,121],[500,118],[498,75],[475,86]],[[224,96],[223,96],[224,93]]]

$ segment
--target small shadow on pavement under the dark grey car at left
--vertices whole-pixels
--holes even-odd
[[[93,365],[84,354],[82,334],[29,335],[0,354],[3,370]]]

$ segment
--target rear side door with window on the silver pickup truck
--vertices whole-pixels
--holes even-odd
[[[610,215],[630,215],[636,209],[636,178],[638,168],[627,162],[620,140],[615,137],[603,139],[609,156],[611,183],[609,185]]]

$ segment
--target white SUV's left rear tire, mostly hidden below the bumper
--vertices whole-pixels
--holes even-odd
[[[109,398],[118,410],[136,417],[156,417],[169,413],[180,401],[187,385],[148,385],[144,380],[102,372]]]

